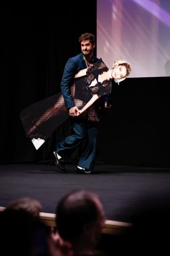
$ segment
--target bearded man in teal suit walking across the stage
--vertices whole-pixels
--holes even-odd
[[[81,53],[67,60],[61,81],[61,90],[65,106],[69,111],[74,134],[57,143],[53,157],[55,158],[56,165],[62,171],[65,171],[64,157],[70,156],[86,140],[75,171],[80,174],[91,174],[95,164],[99,118],[97,117],[96,120],[89,121],[88,115],[86,117],[84,115],[77,117],[79,109],[73,102],[70,88],[75,74],[81,69],[89,67],[92,63],[96,63],[98,58],[94,56],[96,45],[94,35],[90,33],[82,34],[79,37],[79,42]],[[102,98],[104,97],[108,99],[107,95],[104,95]],[[95,105],[96,102],[92,105],[91,109],[94,109]],[[107,102],[105,102],[105,107],[107,108]]]

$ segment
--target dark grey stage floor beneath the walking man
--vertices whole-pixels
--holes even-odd
[[[131,222],[131,214],[149,199],[169,195],[170,169],[98,164],[93,175],[67,172],[50,164],[1,165],[0,206],[18,197],[34,197],[43,204],[42,212],[55,213],[58,200],[72,189],[88,189],[99,194],[107,220]]]

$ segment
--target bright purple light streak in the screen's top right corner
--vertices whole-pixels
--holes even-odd
[[[157,4],[151,0],[133,0],[135,3],[141,5],[147,11],[155,15],[159,20],[170,26],[170,14],[160,8]]]

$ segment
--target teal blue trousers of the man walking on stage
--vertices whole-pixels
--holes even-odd
[[[70,156],[74,150],[84,141],[84,147],[80,153],[78,166],[93,170],[97,150],[98,123],[87,120],[71,118],[74,133],[56,145],[58,155]]]

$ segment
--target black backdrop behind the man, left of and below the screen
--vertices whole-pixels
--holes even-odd
[[[96,35],[96,1],[84,7],[79,1],[60,5],[1,7],[1,164],[48,163],[56,140],[70,132],[66,121],[36,150],[19,116],[31,103],[60,91],[66,60],[80,53],[79,36]],[[128,78],[120,86],[113,84],[113,108],[100,125],[98,163],[170,166],[168,87],[169,77]]]

